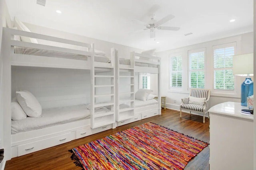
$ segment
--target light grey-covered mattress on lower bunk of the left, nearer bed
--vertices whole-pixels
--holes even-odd
[[[98,109],[98,111],[102,110]],[[43,109],[42,117],[27,117],[26,119],[17,121],[12,120],[12,134],[89,118],[90,110],[86,108],[86,104]]]

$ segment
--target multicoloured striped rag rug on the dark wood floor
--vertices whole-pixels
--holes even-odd
[[[145,123],[72,149],[85,170],[183,170],[208,143]]]

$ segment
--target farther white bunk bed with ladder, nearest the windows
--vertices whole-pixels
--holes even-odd
[[[135,100],[134,76],[135,73],[157,74],[158,76],[158,98],[160,98],[160,65],[161,59],[145,54],[132,52],[130,59],[122,59],[116,51],[116,123],[117,126],[125,125],[134,121],[161,114],[161,103],[152,99],[151,101]],[[123,74],[121,74],[124,72]],[[127,73],[126,73],[127,72]],[[128,86],[122,91],[121,79],[128,78]],[[122,96],[126,95],[126,99]]]

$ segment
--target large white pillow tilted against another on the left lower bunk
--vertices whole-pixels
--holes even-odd
[[[42,107],[35,96],[28,91],[16,92],[17,100],[26,115],[29,117],[42,117]]]

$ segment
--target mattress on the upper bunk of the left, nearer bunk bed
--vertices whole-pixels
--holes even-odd
[[[74,59],[74,60],[87,60],[87,56],[85,55],[76,55],[70,53],[62,53],[57,51],[47,51],[41,49],[31,49],[24,47],[14,47],[14,53],[16,54],[25,54],[25,55],[38,55],[45,57],[56,57],[56,58],[64,58],[64,59]],[[105,55],[102,55],[102,52],[96,53],[94,56],[94,60],[96,62],[109,63],[110,59]]]

